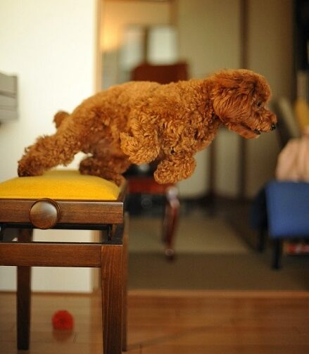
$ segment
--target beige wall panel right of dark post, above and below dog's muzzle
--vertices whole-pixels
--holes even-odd
[[[273,99],[291,99],[293,30],[291,0],[248,1],[248,66],[265,75]],[[247,141],[246,195],[254,196],[274,177],[279,145],[275,132]]]

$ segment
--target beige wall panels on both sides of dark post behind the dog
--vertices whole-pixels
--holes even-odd
[[[262,4],[263,3],[263,4]],[[175,0],[180,57],[191,77],[222,68],[240,68],[240,0]],[[273,98],[291,98],[292,0],[248,0],[248,68],[265,75]],[[215,138],[215,193],[237,196],[240,137],[222,129]],[[245,196],[254,196],[274,174],[279,152],[275,132],[246,141]],[[208,190],[209,149],[198,156],[194,175],[179,183],[182,196]]]

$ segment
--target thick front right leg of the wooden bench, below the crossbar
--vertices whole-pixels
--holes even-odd
[[[102,245],[103,354],[122,352],[122,271],[122,245]]]

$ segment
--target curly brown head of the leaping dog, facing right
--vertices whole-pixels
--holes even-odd
[[[227,128],[253,139],[275,129],[277,118],[266,108],[270,86],[251,70],[225,70],[211,77],[215,115]]]

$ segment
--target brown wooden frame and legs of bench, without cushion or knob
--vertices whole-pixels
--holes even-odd
[[[61,210],[53,229],[98,229],[101,230],[101,242],[98,243],[34,242],[30,210],[37,200],[0,198],[0,265],[17,266],[19,350],[28,350],[30,346],[32,266],[100,267],[103,354],[120,354],[126,350],[127,217],[124,217],[124,198],[125,187],[117,201],[52,201]],[[18,229],[17,241],[6,236],[6,229],[10,228]]]

